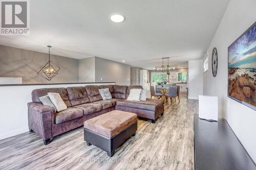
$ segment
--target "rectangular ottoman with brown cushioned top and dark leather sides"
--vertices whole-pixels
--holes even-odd
[[[115,150],[137,131],[137,114],[113,110],[84,122],[84,140],[112,157]]]

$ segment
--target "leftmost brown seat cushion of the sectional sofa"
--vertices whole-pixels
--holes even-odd
[[[83,110],[69,107],[55,114],[55,124],[61,124],[83,116]]]

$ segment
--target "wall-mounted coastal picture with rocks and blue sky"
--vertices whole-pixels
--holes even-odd
[[[256,110],[256,22],[228,46],[228,96]]]

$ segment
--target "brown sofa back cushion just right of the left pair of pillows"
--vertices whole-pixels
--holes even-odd
[[[90,100],[84,87],[68,87],[69,100],[72,106],[89,103]]]

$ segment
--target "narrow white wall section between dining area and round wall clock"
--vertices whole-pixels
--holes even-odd
[[[188,99],[198,100],[203,94],[203,61],[188,61]]]

